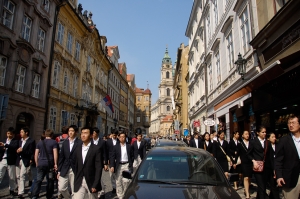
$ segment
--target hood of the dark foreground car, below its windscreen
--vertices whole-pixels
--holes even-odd
[[[131,183],[125,193],[126,199],[153,199],[153,198],[213,198],[213,199],[240,199],[238,193],[230,186],[203,186],[203,185],[169,185],[159,183]]]

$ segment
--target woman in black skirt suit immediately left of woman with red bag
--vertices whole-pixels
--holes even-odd
[[[251,177],[253,173],[253,163],[252,161],[248,158],[247,152],[249,150],[250,146],[250,133],[249,131],[244,131],[242,134],[242,141],[240,142],[239,145],[239,153],[240,153],[240,158],[241,158],[241,170],[244,178],[244,194],[246,196],[246,199],[250,198],[250,193],[249,193],[249,187],[251,184]]]

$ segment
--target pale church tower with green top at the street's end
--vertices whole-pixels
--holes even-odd
[[[173,115],[173,105],[172,105],[172,96],[173,96],[173,65],[172,60],[169,56],[168,49],[165,51],[164,58],[162,59],[161,64],[161,75],[160,75],[160,84],[159,88],[159,99],[156,103],[151,107],[151,111],[157,110],[158,112],[154,113],[157,117],[151,118],[151,133],[158,133],[159,135],[169,135],[170,131],[172,131],[171,125],[173,123],[173,119],[168,120],[164,119],[165,117]],[[164,124],[161,121],[164,120]],[[159,129],[157,129],[159,126]],[[168,126],[168,130],[165,130],[166,126]]]

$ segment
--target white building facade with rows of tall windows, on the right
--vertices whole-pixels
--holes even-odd
[[[258,32],[250,3],[255,5],[246,0],[194,1],[186,30],[190,46],[189,118],[193,130],[193,121],[200,121],[201,134],[225,130],[229,138],[237,130],[233,125],[238,122],[235,110],[251,97],[238,92],[247,78],[258,73],[257,58],[249,44]],[[244,80],[235,65],[239,53],[247,60]],[[215,125],[205,126],[207,118]]]

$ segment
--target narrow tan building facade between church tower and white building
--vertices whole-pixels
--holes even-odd
[[[184,131],[188,130],[188,84],[187,75],[189,47],[180,44],[177,50],[177,60],[175,64],[175,74],[173,82],[175,110],[173,110],[173,126],[174,132],[180,136],[184,135]]]

